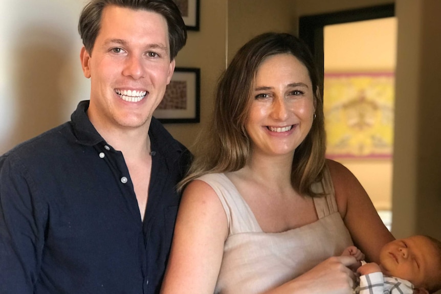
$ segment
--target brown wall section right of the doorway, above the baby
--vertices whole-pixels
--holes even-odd
[[[395,236],[441,238],[441,2],[398,0]],[[396,212],[396,213],[395,213]]]

